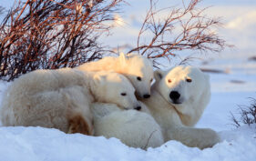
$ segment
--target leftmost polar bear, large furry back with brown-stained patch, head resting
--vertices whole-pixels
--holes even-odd
[[[44,126],[92,135],[90,104],[140,106],[123,75],[76,69],[36,70],[17,78],[2,103],[3,126]]]

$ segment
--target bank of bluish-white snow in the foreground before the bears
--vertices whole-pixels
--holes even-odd
[[[163,146],[145,151],[125,146],[116,138],[67,135],[43,127],[0,127],[0,156],[5,161],[255,160],[255,126],[222,131],[220,136],[223,139],[220,144],[204,150],[169,141]]]

